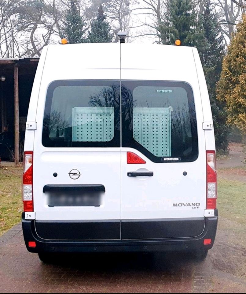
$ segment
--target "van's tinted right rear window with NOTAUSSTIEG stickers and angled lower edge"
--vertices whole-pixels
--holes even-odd
[[[191,87],[183,82],[122,81],[122,146],[154,162],[198,156]]]

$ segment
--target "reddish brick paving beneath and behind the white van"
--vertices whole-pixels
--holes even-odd
[[[191,291],[193,275],[189,262],[161,256],[100,254],[45,265],[37,254],[26,250],[20,225],[1,239],[0,292]]]

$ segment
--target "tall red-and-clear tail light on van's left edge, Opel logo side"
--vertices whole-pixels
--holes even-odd
[[[22,176],[22,201],[24,211],[33,211],[33,151],[24,152],[24,171]]]

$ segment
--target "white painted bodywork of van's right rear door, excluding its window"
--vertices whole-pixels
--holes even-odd
[[[193,162],[156,163],[136,149],[122,147],[122,221],[201,217],[204,222],[204,209],[206,209],[206,152],[205,135],[202,128],[204,119],[192,48],[165,46],[164,50],[163,46],[159,45],[126,45],[121,47],[122,85],[127,85],[129,80],[134,80],[136,86],[138,86],[138,80],[162,80],[185,81],[191,86],[196,111],[198,157]],[[151,50],[155,54],[148,54]],[[133,55],[132,52],[138,52],[138,55]],[[127,152],[129,151],[140,156],[146,161],[146,164],[127,164]],[[127,173],[130,171],[152,171],[153,176],[129,177]],[[187,175],[184,176],[183,172],[186,172]],[[156,222],[156,237],[160,237],[157,234],[158,226],[160,223]],[[152,227],[153,231],[155,231],[154,228],[155,226]],[[202,231],[203,226],[199,233]],[[122,236],[127,234],[130,238],[128,232],[130,232],[130,227],[122,226]],[[162,234],[165,238],[165,230]],[[148,238],[147,235],[142,234],[142,236]],[[183,234],[183,237],[185,236],[187,236],[186,232]]]

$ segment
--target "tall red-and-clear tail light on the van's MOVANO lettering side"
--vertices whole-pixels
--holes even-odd
[[[206,151],[207,156],[207,209],[216,208],[217,173],[215,151]]]

